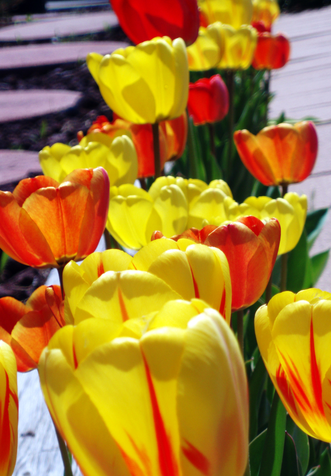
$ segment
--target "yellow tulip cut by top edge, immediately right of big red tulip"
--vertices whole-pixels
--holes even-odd
[[[252,20],[252,0],[198,0],[198,6],[207,25],[221,21],[238,29]]]

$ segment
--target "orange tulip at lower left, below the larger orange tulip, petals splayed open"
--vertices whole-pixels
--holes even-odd
[[[0,340],[12,348],[19,372],[38,367],[43,348],[64,325],[64,321],[58,321],[49,308],[45,297],[46,289],[46,286],[40,286],[26,304],[13,297],[0,299]],[[61,302],[60,287],[52,286],[52,292]]]

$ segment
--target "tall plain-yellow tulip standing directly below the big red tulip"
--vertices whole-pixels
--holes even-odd
[[[123,119],[154,124],[186,108],[189,73],[181,38],[154,38],[104,57],[90,53],[86,61],[102,97]]]

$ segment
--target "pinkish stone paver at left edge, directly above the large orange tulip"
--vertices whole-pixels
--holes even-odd
[[[38,152],[0,150],[0,185],[27,177],[29,172],[42,174]]]

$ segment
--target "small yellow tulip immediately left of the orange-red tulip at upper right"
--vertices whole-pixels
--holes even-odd
[[[251,66],[257,42],[255,28],[244,25],[235,30],[231,25],[222,25],[224,54],[218,64],[220,69],[247,69]]]

